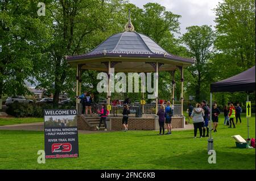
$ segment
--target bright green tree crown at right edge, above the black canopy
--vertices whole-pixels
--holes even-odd
[[[214,45],[222,60],[228,62],[225,68],[231,66],[237,73],[251,68],[255,65],[255,1],[225,0],[214,11],[217,23]]]

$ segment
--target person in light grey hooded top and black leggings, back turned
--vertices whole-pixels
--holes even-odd
[[[193,109],[191,113],[191,117],[193,118],[194,125],[194,138],[196,138],[197,129],[199,129],[200,138],[202,137],[202,128],[204,125],[204,110],[200,107],[200,104],[196,104],[196,108]]]

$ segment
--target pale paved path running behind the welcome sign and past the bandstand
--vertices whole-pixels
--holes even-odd
[[[174,128],[172,131],[183,131],[193,129],[192,124],[185,125],[185,128]],[[44,123],[26,123],[26,124],[13,124],[13,125],[5,125],[0,126],[0,130],[21,130],[21,131],[44,131]],[[105,131],[98,131],[105,132]],[[89,134],[89,133],[97,133],[96,131],[85,131],[79,130],[79,133]]]

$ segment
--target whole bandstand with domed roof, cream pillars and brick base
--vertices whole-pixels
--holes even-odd
[[[125,26],[125,31],[110,36],[91,52],[76,56],[67,56],[68,64],[76,68],[76,94],[81,94],[81,71],[97,70],[108,73],[108,92],[107,104],[110,105],[110,69],[114,68],[115,73],[156,73],[156,90],[158,90],[158,73],[159,71],[168,71],[172,77],[172,105],[174,105],[174,117],[172,117],[173,128],[184,128],[185,117],[183,115],[183,70],[187,66],[194,63],[194,60],[174,56],[166,52],[150,37],[135,32],[134,26],[130,21]],[[175,105],[175,71],[181,73],[181,105]],[[158,117],[156,112],[159,109],[158,91],[154,105],[138,105],[142,107],[142,114],[138,116],[130,116],[129,128],[134,130],[154,130],[158,129]],[[144,94],[142,94],[144,96]],[[97,105],[95,105],[95,109]],[[131,105],[133,107],[134,105]],[[76,108],[80,110],[80,101],[77,99]],[[134,106],[136,107],[136,106]],[[116,111],[117,109],[115,109]],[[80,111],[79,111],[80,112]],[[115,114],[116,113],[116,114]],[[97,115],[95,115],[97,116]],[[77,121],[79,129],[96,130],[98,117],[85,117],[79,115]],[[122,129],[122,115],[117,112],[110,111],[107,119],[107,127],[109,130]]]

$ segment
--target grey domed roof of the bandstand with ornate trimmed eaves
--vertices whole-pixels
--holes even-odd
[[[106,71],[104,62],[117,63],[116,72],[151,72],[154,68],[148,62],[162,64],[159,71],[175,70],[193,64],[194,60],[182,58],[166,52],[146,35],[134,31],[130,20],[125,32],[110,36],[91,52],[76,56],[67,56],[72,66],[81,65],[82,69]]]

